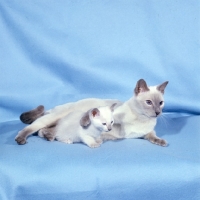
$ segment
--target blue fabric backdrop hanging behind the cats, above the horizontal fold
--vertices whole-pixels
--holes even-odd
[[[169,80],[167,111],[200,113],[199,13],[198,0],[1,0],[0,120],[83,96],[126,100],[140,78]]]

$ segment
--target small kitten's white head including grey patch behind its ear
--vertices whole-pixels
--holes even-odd
[[[112,130],[114,124],[113,111],[116,103],[112,106],[93,108],[86,112],[80,120],[82,127],[93,124],[100,131],[108,132]]]

